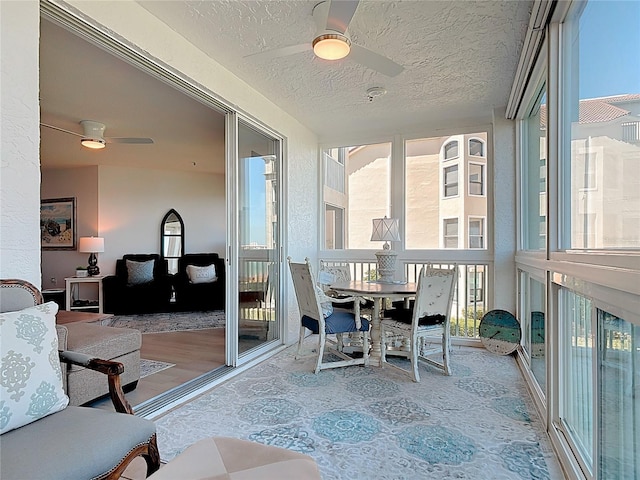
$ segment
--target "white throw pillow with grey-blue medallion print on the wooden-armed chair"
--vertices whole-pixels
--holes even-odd
[[[0,314],[0,434],[63,410],[58,305]]]

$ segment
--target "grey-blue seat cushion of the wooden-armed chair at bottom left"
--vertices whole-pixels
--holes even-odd
[[[112,470],[155,433],[150,420],[67,407],[0,437],[2,480],[88,480]]]

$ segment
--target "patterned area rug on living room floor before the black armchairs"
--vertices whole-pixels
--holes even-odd
[[[142,333],[181,332],[224,328],[225,315],[224,310],[115,315],[102,320],[101,324],[109,327],[135,328]]]

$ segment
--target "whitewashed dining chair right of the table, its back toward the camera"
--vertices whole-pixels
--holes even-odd
[[[445,375],[451,374],[449,365],[450,318],[457,271],[455,265],[452,268],[422,267],[418,276],[416,297],[412,302],[413,308],[410,318],[383,318],[381,320],[383,365],[399,369],[408,374],[414,382],[420,381],[419,360],[442,369]],[[398,365],[387,362],[388,332],[404,337],[403,345],[408,348],[394,350],[393,354],[410,358],[411,370],[405,370]],[[435,344],[428,341],[434,336],[440,337]],[[442,355],[442,361],[428,358],[434,354]]]

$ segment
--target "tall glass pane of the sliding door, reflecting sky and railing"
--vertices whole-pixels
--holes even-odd
[[[280,339],[280,140],[238,121],[237,340],[239,357]],[[234,295],[235,296],[235,295]]]

